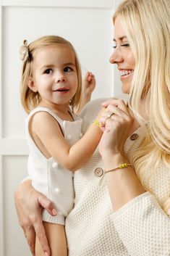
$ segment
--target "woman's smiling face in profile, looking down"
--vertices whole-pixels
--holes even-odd
[[[110,62],[117,65],[120,72],[120,80],[122,80],[122,91],[124,94],[128,94],[135,69],[135,58],[119,17],[116,17],[114,24],[114,49]]]

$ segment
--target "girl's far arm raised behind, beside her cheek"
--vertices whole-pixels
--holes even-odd
[[[95,76],[93,73],[86,73],[85,77],[82,79],[82,94],[80,97],[80,103],[74,107],[74,112],[76,115],[80,113],[85,104],[90,102],[91,94],[95,89]]]

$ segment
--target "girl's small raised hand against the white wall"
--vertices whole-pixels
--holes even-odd
[[[82,79],[82,96],[90,100],[91,94],[95,88],[95,76],[93,73],[87,72]]]

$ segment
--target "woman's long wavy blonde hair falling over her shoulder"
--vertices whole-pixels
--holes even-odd
[[[116,10],[114,22],[118,16],[135,57],[129,107],[146,128],[145,139],[130,161],[145,189],[150,190],[153,166],[156,169],[163,163],[170,170],[170,1],[126,0]],[[147,98],[149,121],[140,115],[140,102]],[[161,207],[168,213],[169,196]]]

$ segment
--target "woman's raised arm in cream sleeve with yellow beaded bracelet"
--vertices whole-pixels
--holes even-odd
[[[123,102],[111,101],[103,113],[104,129],[99,149],[106,170],[124,162],[124,142],[132,127],[132,118]],[[106,120],[106,115],[114,115]],[[145,192],[132,167],[106,173],[114,213],[112,220],[131,256],[161,256],[170,253],[170,221],[155,197]]]

